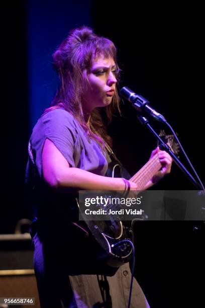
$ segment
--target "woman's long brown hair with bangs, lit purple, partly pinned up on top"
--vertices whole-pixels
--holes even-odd
[[[104,140],[111,145],[106,126],[111,122],[114,110],[117,109],[120,112],[117,90],[110,105],[105,108],[95,108],[92,111],[89,127],[85,122],[81,104],[83,75],[89,71],[92,59],[99,55],[114,59],[117,66],[116,78],[118,78],[120,69],[117,65],[117,52],[111,40],[97,36],[92,29],[85,26],[70,31],[53,54],[53,64],[59,75],[60,85],[51,107],[44,113],[63,107],[79,121],[88,136],[104,146]]]

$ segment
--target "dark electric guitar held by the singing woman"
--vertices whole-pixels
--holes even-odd
[[[161,131],[160,136],[170,146],[175,155],[178,155],[179,146],[175,142],[173,135],[166,136],[164,131]],[[133,177],[130,177],[129,173],[116,158],[112,149],[108,145],[106,147],[109,155],[114,157],[113,161],[109,164],[107,176],[126,178],[137,184],[138,191],[143,190],[148,181],[162,167],[158,155],[155,154]],[[87,220],[82,221],[82,223],[76,222],[75,225],[83,229],[87,234],[91,233],[101,246],[102,253],[98,256],[99,258],[106,261],[110,266],[119,267],[129,262],[132,258],[132,245],[129,242],[123,241],[129,240],[133,242],[131,222],[115,220],[112,214],[109,215],[109,219],[99,221]],[[146,215],[142,216],[140,220],[145,219]]]

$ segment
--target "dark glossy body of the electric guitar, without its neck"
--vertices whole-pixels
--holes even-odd
[[[106,176],[130,179],[129,173],[118,162],[111,162]],[[77,222],[75,225],[84,229],[100,244],[98,258],[113,267],[119,267],[132,258],[132,245],[125,240],[133,242],[131,221],[115,220],[111,215],[109,220],[87,220]],[[123,241],[123,243],[121,242]]]

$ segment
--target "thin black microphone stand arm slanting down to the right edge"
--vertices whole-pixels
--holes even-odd
[[[169,153],[169,155],[171,156],[171,158],[174,160],[174,162],[176,163],[176,165],[182,170],[182,172],[188,177],[188,179],[190,180],[190,182],[198,189],[198,190],[203,190],[203,188],[199,185],[199,183],[197,183],[195,181],[195,179],[192,177],[192,175],[188,172],[188,170],[183,166],[183,164],[178,160],[178,158],[175,156],[175,154],[171,151],[171,149],[169,148],[169,146],[164,143],[164,141],[160,138],[160,136],[156,133],[156,131],[153,129],[153,127],[149,124],[149,121],[147,118],[139,115],[138,113],[138,119],[140,120],[140,123],[143,126],[146,126],[151,133],[158,139],[158,141],[160,142],[159,144],[159,148],[160,150],[166,151],[167,153]]]

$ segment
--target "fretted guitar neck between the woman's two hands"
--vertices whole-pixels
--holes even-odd
[[[158,155],[155,154],[131,179],[138,185],[137,190],[142,190],[157,171],[162,167]]]

